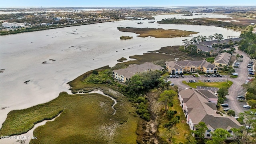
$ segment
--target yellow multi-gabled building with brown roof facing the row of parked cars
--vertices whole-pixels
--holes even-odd
[[[216,73],[218,72],[218,68],[205,60],[199,61],[191,61],[191,60],[184,60],[184,61],[170,61],[165,62],[166,70],[170,74],[182,74],[184,71],[186,72],[196,72],[199,70],[200,72],[205,73]]]

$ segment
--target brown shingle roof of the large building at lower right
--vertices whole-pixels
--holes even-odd
[[[234,117],[216,114],[215,103],[208,102],[208,98],[218,98],[213,91],[185,89],[180,90],[179,94],[183,98],[183,102],[186,103],[193,124],[204,122],[208,127],[224,128],[225,130],[241,126]]]

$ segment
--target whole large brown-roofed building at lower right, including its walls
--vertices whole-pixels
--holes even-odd
[[[205,131],[204,138],[212,138],[210,132],[214,132],[216,128],[223,128],[233,135],[231,129],[242,126],[234,116],[221,116],[216,113],[218,111],[216,108],[218,96],[213,91],[184,89],[178,92],[178,99],[191,130],[196,130],[196,125],[199,122],[206,124],[208,130]],[[193,134],[193,136],[195,135]],[[227,139],[232,138],[231,136]]]

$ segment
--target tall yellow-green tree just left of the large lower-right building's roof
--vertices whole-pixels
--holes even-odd
[[[177,92],[174,90],[165,90],[162,94],[160,94],[159,101],[164,102],[165,112],[167,113],[167,105],[172,102],[174,96],[177,96]]]

